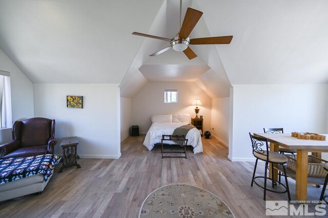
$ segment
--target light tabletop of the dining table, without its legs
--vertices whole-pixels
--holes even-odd
[[[267,138],[269,142],[295,150],[328,150],[328,141],[305,140],[292,137],[291,134],[255,133],[255,136]],[[327,134],[320,134],[326,136]]]

